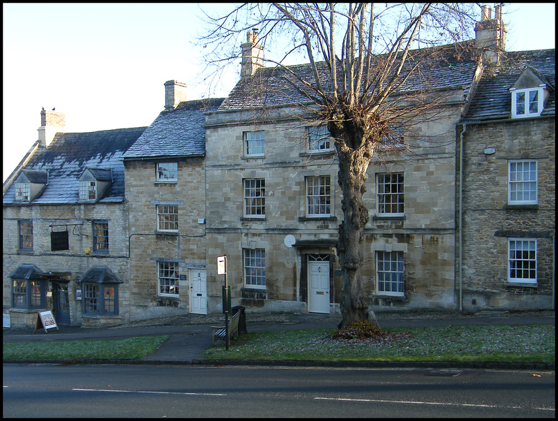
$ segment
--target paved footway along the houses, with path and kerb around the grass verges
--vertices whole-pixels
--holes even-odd
[[[416,313],[416,314],[377,314],[380,325],[385,327],[416,327],[416,326],[447,326],[447,325],[536,325],[555,324],[555,312],[526,312],[526,313],[497,313],[481,312],[474,315],[462,315],[460,313]],[[253,319],[253,320],[251,320]],[[324,314],[271,314],[262,315],[246,312],[246,327],[248,332],[262,332],[266,330],[291,330],[291,329],[314,329],[318,327],[337,327],[341,320],[340,315]],[[155,323],[155,324],[153,324]],[[3,343],[10,342],[37,342],[37,341],[75,341],[80,339],[125,339],[149,335],[169,334],[171,338],[165,342],[155,353],[137,361],[82,361],[82,363],[110,363],[110,364],[258,364],[258,365],[305,365],[305,366],[336,366],[347,367],[348,365],[359,367],[385,367],[386,363],[379,362],[227,362],[202,360],[202,353],[211,347],[210,325],[218,322],[218,316],[177,316],[130,325],[117,327],[104,327],[100,329],[59,326],[59,330],[3,330]],[[222,322],[221,322],[222,323]],[[218,344],[223,344],[221,341]],[[23,362],[17,360],[4,360],[3,362]],[[29,361],[26,361],[29,363]],[[54,361],[34,361],[54,362]],[[60,362],[60,361],[58,361]],[[479,365],[480,364],[480,365]],[[455,363],[391,363],[390,367],[419,366],[419,367],[455,367]],[[498,363],[476,363],[457,364],[460,367],[488,367],[488,368],[527,368],[527,369],[555,369],[552,364],[498,364]]]

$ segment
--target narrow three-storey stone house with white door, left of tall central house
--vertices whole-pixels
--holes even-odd
[[[207,312],[203,126],[221,101],[186,101],[186,84],[165,82],[165,110],[123,155],[133,320]]]

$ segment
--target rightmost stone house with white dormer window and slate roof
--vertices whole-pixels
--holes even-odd
[[[485,62],[458,125],[464,311],[554,308],[555,130],[554,49]]]

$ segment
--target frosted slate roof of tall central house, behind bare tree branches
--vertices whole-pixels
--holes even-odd
[[[423,62],[419,70],[402,84],[398,93],[455,87],[465,87],[465,94],[469,93],[478,55],[473,42],[445,45],[437,51],[436,57]],[[402,74],[414,64],[414,60],[431,53],[432,49],[412,50]],[[378,62],[382,59],[383,56],[376,58]],[[331,91],[326,63],[317,63],[317,68],[322,86],[326,91]],[[289,66],[289,69],[303,80],[314,80],[310,64]],[[308,98],[301,91],[309,93],[310,89],[284,68],[261,68],[254,76],[241,79],[236,84],[220,105],[219,111],[308,103]]]

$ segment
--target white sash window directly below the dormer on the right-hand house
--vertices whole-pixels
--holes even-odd
[[[508,203],[510,205],[536,205],[536,161],[508,161]]]

